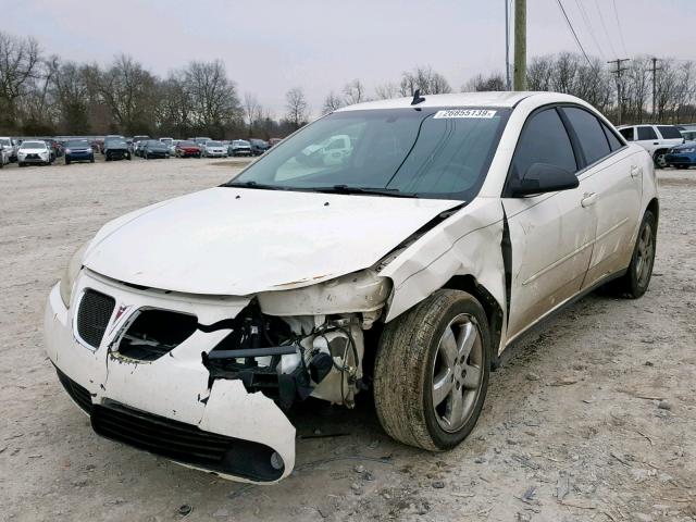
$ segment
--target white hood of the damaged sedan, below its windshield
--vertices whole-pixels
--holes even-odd
[[[461,201],[217,187],[107,224],[83,264],[167,290],[245,296],[369,268]]]

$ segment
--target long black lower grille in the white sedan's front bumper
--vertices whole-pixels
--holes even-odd
[[[95,406],[91,425],[99,435],[204,470],[271,482],[284,464],[262,444],[203,432],[198,426],[146,413],[115,401]],[[279,464],[279,465],[278,465]],[[276,469],[277,468],[277,469]]]

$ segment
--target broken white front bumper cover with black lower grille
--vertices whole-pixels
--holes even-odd
[[[97,349],[79,338],[74,324],[74,310],[87,288],[116,301]],[[59,376],[62,374],[63,386],[90,414],[100,435],[225,478],[271,484],[293,471],[295,427],[273,400],[261,393],[247,393],[241,381],[210,378],[200,355],[228,330],[198,330],[167,356],[151,362],[126,360],[111,349],[128,318],[141,308],[195,313],[199,323],[212,324],[234,316],[246,303],[241,298],[137,290],[83,270],[71,309],[63,304],[58,285],[50,293],[46,351]]]

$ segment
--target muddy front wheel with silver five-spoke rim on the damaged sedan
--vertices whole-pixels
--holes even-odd
[[[438,290],[388,323],[374,369],[382,427],[409,446],[457,446],[481,414],[490,353],[486,314],[464,291]]]

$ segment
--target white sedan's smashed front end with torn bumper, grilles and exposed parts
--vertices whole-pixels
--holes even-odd
[[[365,387],[365,330],[390,279],[362,271],[245,297],[133,287],[83,270],[58,286],[47,351],[108,438],[226,478],[269,484],[295,463],[284,411],[315,397],[352,407]]]

